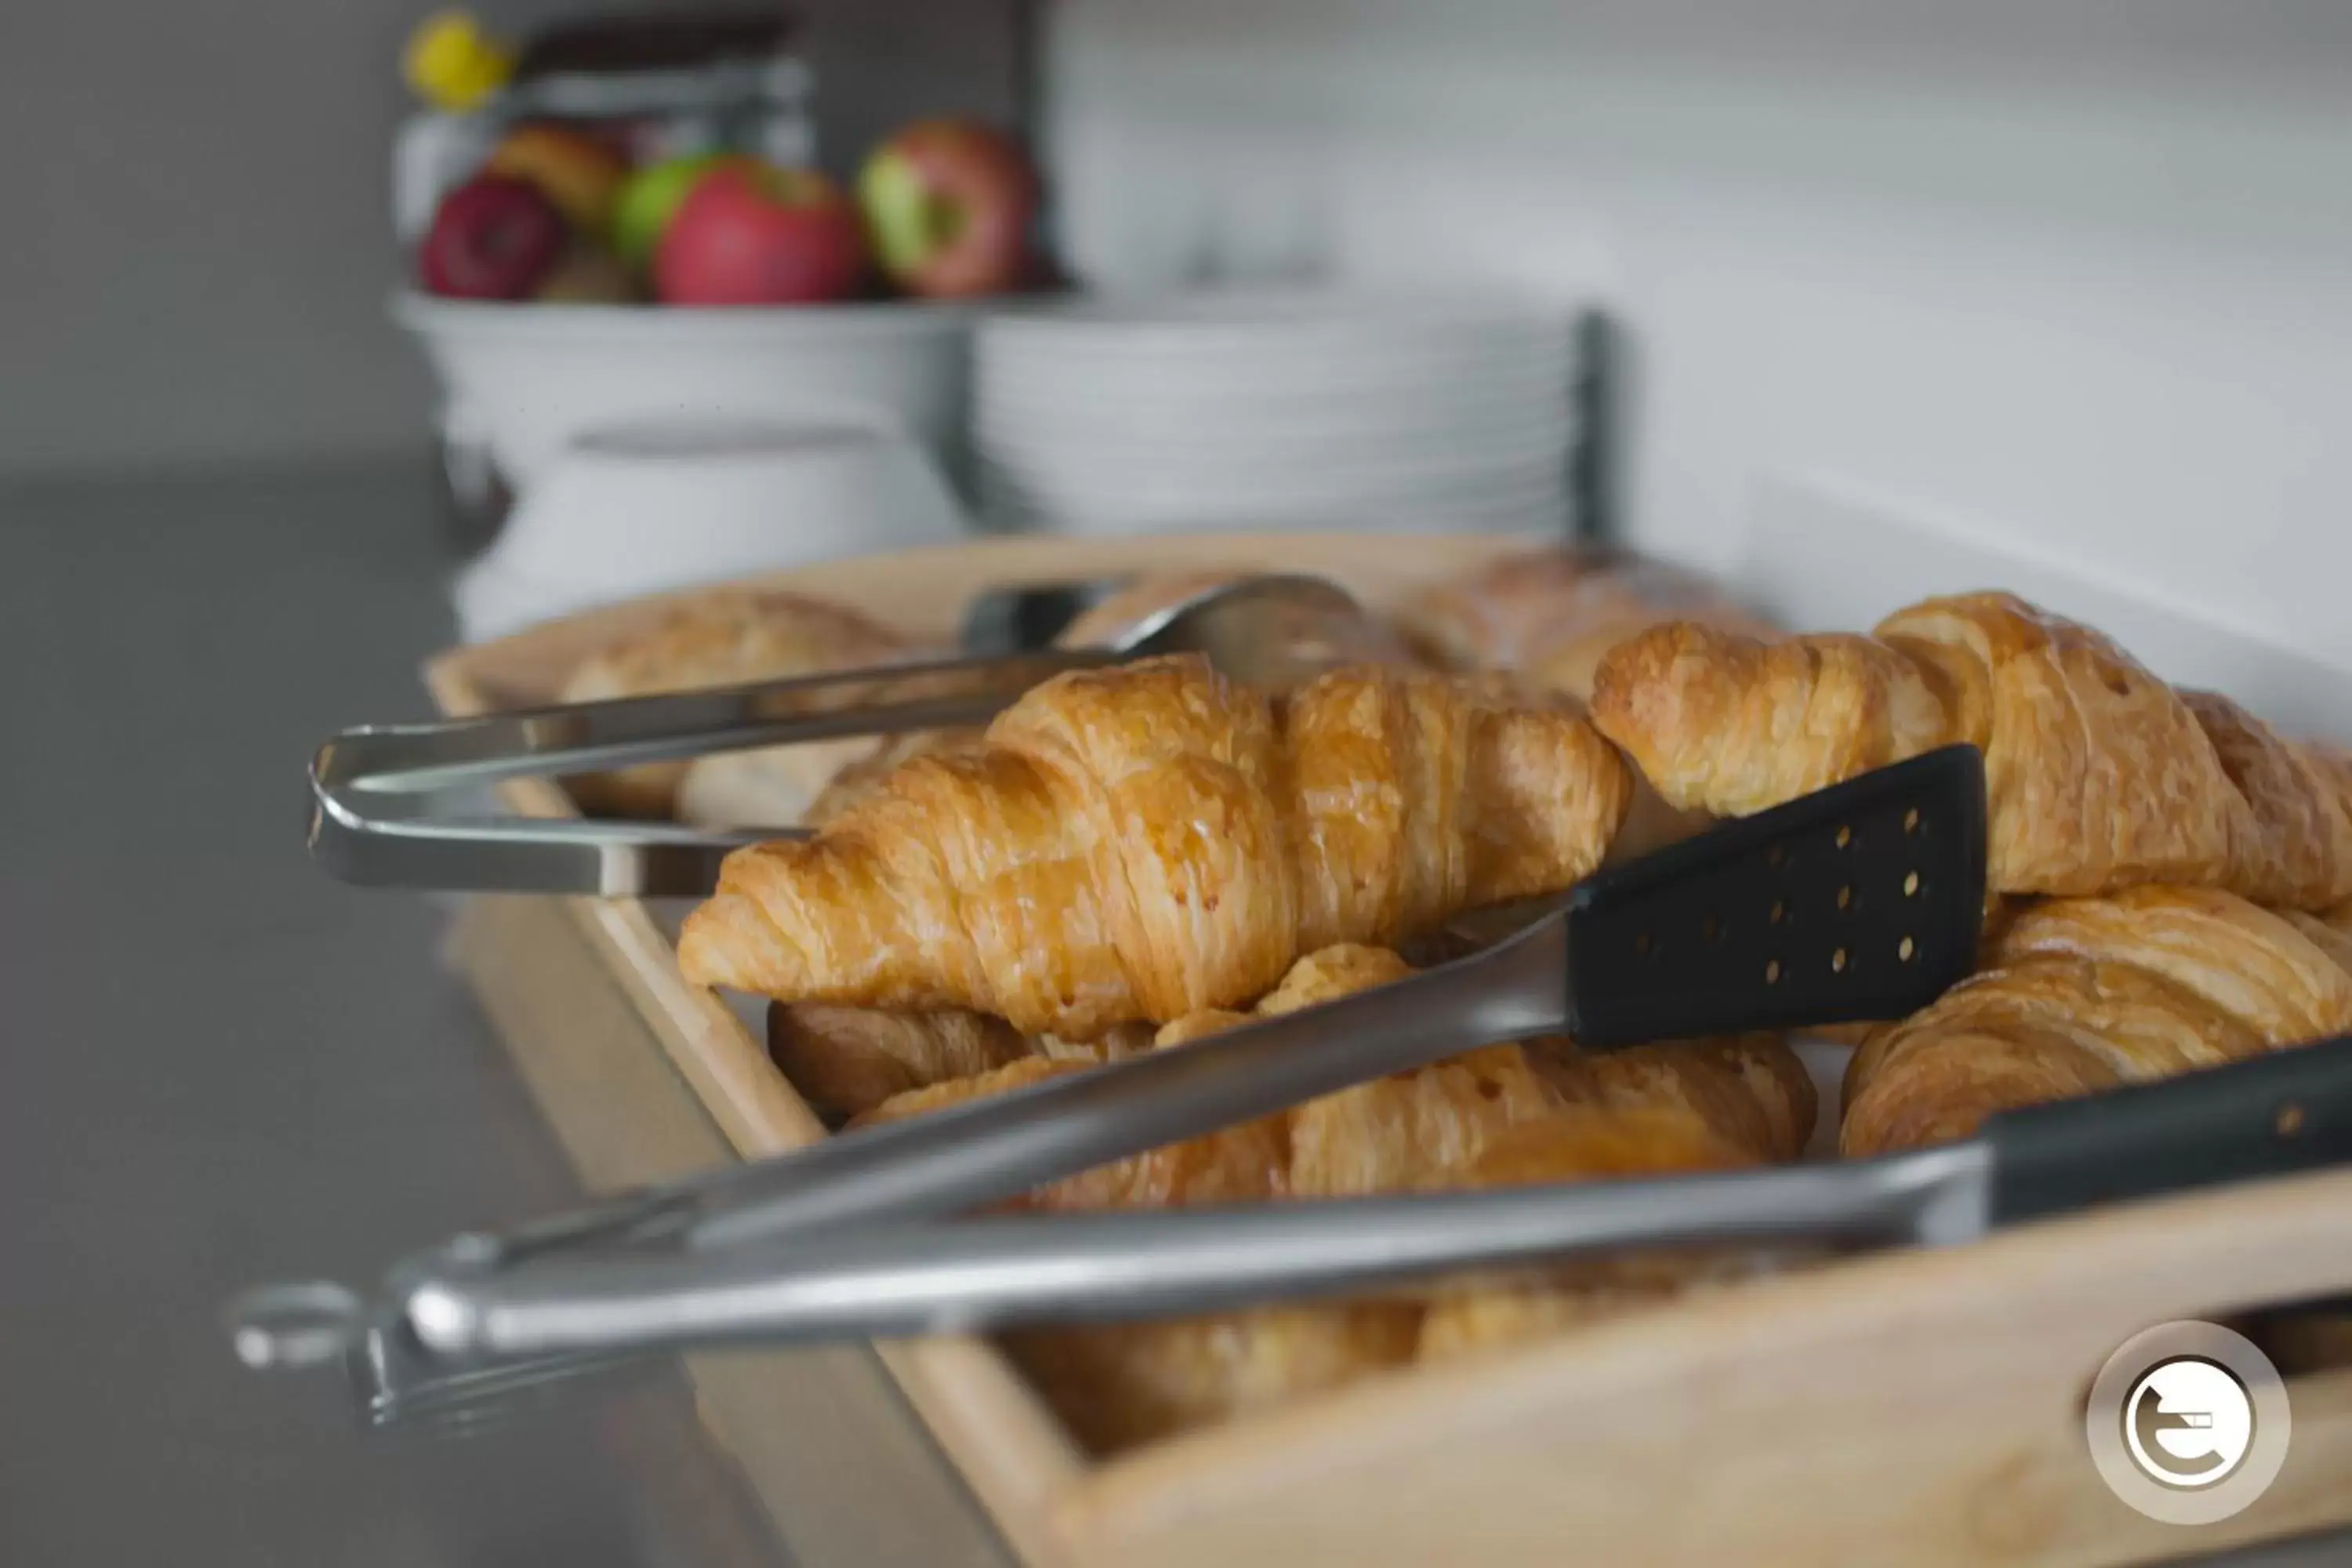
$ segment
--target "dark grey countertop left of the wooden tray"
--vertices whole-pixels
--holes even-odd
[[[677,1382],[369,1436],[214,1321],[574,1194],[442,912],[301,851],[310,745],[426,715],[433,517],[421,461],[0,489],[0,1563],[781,1561]]]

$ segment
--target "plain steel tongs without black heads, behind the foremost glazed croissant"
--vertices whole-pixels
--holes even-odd
[[[1282,684],[1329,663],[1362,618],[1322,578],[1254,576],[1169,604],[1105,646],[348,729],[310,759],[310,853],[343,882],[376,886],[701,896],[729,851],[797,830],[440,816],[430,797],[527,773],[981,724],[1049,675],[1148,654],[1207,654],[1228,675]]]

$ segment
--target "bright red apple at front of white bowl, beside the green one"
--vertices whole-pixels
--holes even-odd
[[[814,306],[863,282],[858,214],[814,169],[720,165],[654,247],[654,292],[670,306]]]

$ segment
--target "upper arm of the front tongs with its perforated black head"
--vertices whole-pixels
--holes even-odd
[[[1517,936],[1392,985],[459,1237],[395,1267],[372,1302],[339,1298],[322,1342],[416,1345],[430,1338],[419,1312],[461,1309],[539,1265],[637,1258],[691,1279],[743,1244],[969,1213],[1491,1041],[1573,1034],[1606,1051],[1900,1018],[1973,969],[1983,905],[1983,757],[1929,752],[1611,867]]]

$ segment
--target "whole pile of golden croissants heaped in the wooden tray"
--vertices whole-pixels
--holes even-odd
[[[1070,639],[1112,637],[1197,585],[1143,583]],[[842,607],[717,595],[595,656],[569,696],[915,654]],[[1985,755],[1980,973],[1860,1037],[1844,1152],[2352,1030],[2352,757],[2176,691],[2011,595],[1931,599],[1867,637],[1788,637],[1679,574],[1541,552],[1435,588],[1359,654],[1282,691],[1185,656],[1073,672],[985,731],[748,752],[588,780],[583,797],[717,820],[710,802],[731,792],[757,813],[734,820],[818,827],[731,856],[680,964],[769,997],[779,1067],[849,1126],[1395,980],[1475,940],[1482,910],[1947,743]],[[1778,1037],[1486,1046],[1025,1204],[1788,1161],[1813,1100]],[[1773,1262],[1613,1258],[1411,1300],[1035,1331],[1007,1349],[1084,1441],[1115,1448]]]

